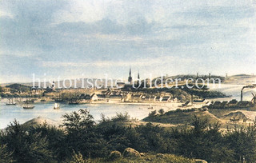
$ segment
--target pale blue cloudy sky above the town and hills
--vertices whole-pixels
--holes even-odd
[[[256,0],[1,0],[0,83],[256,74]]]

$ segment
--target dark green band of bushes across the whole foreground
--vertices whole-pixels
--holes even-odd
[[[94,118],[83,109],[63,115],[61,129],[47,124],[28,127],[14,121],[0,135],[0,162],[256,160],[255,123],[223,134],[218,123],[209,125],[206,119],[198,117],[194,117],[192,127],[182,129],[165,129],[151,123],[136,127],[122,125],[127,121],[130,121],[127,114],[118,113],[112,118],[102,116],[102,121],[95,124]],[[139,156],[124,157],[123,151],[129,147],[139,151]],[[122,156],[110,157],[111,151]]]

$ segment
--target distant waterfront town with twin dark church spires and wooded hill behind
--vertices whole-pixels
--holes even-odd
[[[177,77],[178,78],[178,77]],[[104,85],[98,88],[97,86],[90,86],[89,88],[68,88],[62,89],[55,87],[53,83],[48,83],[46,88],[41,88],[40,86],[27,86],[20,84],[6,85],[2,87],[2,97],[8,97],[10,104],[15,104],[15,102],[34,102],[34,101],[56,101],[56,102],[66,102],[70,105],[72,104],[88,104],[88,103],[115,103],[115,102],[139,102],[139,103],[159,103],[159,102],[184,102],[184,105],[203,105],[204,102],[197,102],[198,100],[204,101],[204,98],[207,97],[225,97],[222,93],[211,93],[207,91],[205,85],[202,85],[202,88],[194,87],[194,96],[193,91],[186,87],[186,78],[190,78],[190,84],[193,84],[193,79],[199,78],[198,74],[193,75],[184,75],[180,76],[180,81],[170,82],[170,78],[162,78],[166,87],[160,87],[162,85],[160,78],[154,78],[152,81],[148,78],[145,80],[140,80],[138,78],[133,80],[131,77],[131,70],[129,72],[129,77],[127,82],[117,82],[116,86]],[[209,76],[202,76],[202,81],[205,81]],[[222,78],[215,76],[214,78]],[[223,78],[222,78],[223,79]],[[169,80],[169,82],[167,82]],[[107,82],[106,82],[107,83]],[[102,84],[102,83],[101,83]],[[38,84],[39,85],[39,84]],[[178,86],[179,87],[178,87]],[[186,87],[186,88],[185,88]],[[198,96],[203,89],[206,93],[206,96]],[[191,101],[191,97],[194,97]],[[26,100],[24,101],[24,99]],[[183,106],[184,106],[183,105]]]

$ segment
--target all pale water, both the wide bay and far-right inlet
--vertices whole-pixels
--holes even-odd
[[[213,88],[212,90],[218,90],[226,93],[227,95],[232,95],[229,98],[220,98],[215,100],[229,101],[231,99],[240,100],[240,91],[244,85],[226,85],[222,84],[221,88]],[[250,101],[252,99],[252,94],[256,93],[256,89],[244,89],[243,97],[244,100]],[[129,113],[130,117],[135,117],[141,120],[146,117],[152,109],[148,109],[149,105],[127,105],[127,104],[86,104],[86,105],[66,105],[60,104],[61,109],[53,109],[54,101],[51,102],[41,102],[35,103],[34,109],[23,109],[20,105],[6,105],[7,100],[2,99],[0,102],[0,129],[5,128],[10,124],[10,121],[14,121],[16,118],[20,123],[29,121],[34,117],[47,117],[55,121],[61,121],[62,115],[65,113],[70,113],[72,111],[78,111],[78,109],[88,109],[90,114],[94,116],[95,121],[101,119],[101,113],[105,114],[106,117],[113,117],[116,113]],[[166,111],[170,109],[177,109],[178,105],[171,104],[168,109],[165,108],[166,104],[155,107],[154,109],[165,109]],[[153,110],[154,110],[153,109]]]

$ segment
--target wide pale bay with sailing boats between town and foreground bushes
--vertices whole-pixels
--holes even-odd
[[[40,102],[34,104],[34,109],[23,109],[21,105],[6,105],[6,99],[0,103],[0,129],[5,128],[16,118],[20,123],[29,121],[34,117],[47,117],[55,121],[61,121],[62,115],[78,111],[79,109],[88,109],[90,114],[94,116],[94,120],[101,119],[101,113],[106,117],[114,117],[116,113],[129,113],[130,117],[141,120],[146,117],[152,109],[148,109],[149,105],[131,105],[131,104],[85,104],[85,105],[67,105],[60,104],[61,109],[54,109],[54,101]],[[154,106],[154,105],[153,105]],[[176,109],[178,105],[172,105]],[[165,109],[165,107],[160,107]],[[160,109],[154,107],[154,109]],[[170,110],[170,109],[165,109]]]

